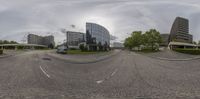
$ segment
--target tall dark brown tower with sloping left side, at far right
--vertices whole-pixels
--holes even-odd
[[[189,20],[177,17],[172,25],[169,42],[192,43],[193,37],[189,34]]]

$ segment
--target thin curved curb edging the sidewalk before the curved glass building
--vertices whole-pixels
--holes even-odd
[[[119,52],[117,52],[117,53],[114,53],[114,54],[111,54],[111,55],[108,55],[108,56],[103,57],[103,58],[99,58],[99,59],[96,59],[96,60],[92,60],[92,61],[74,61],[74,60],[65,59],[65,58],[63,58],[63,57],[57,57],[57,56],[54,56],[54,55],[50,55],[50,54],[48,54],[48,53],[47,53],[46,55],[48,55],[48,56],[50,56],[50,57],[54,57],[54,58],[59,59],[59,60],[64,60],[64,61],[66,61],[66,62],[68,62],[68,63],[71,63],[71,64],[89,64],[89,63],[97,63],[97,62],[100,62],[100,61],[104,61],[104,60],[106,60],[106,59],[109,59],[109,58],[111,58],[111,57],[114,57],[114,56],[118,55],[120,52],[121,52],[121,51],[119,51]]]

